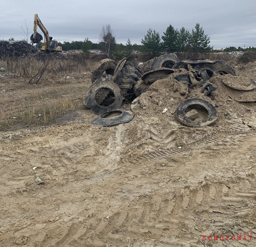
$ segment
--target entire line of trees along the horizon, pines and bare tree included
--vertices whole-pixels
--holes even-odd
[[[204,33],[203,27],[197,23],[191,33],[182,27],[180,30],[175,29],[171,24],[167,27],[163,35],[160,36],[158,32],[151,28],[147,30],[144,39],[141,39],[141,45],[131,44],[130,39],[126,44],[117,44],[115,34],[110,26],[102,26],[99,34],[99,43],[92,43],[88,38],[84,41],[72,41],[72,42],[58,42],[58,45],[62,47],[63,51],[68,50],[82,50],[86,55],[89,55],[90,50],[102,50],[107,57],[113,59],[121,59],[128,56],[133,50],[140,51],[147,55],[149,58],[159,56],[163,52],[230,52],[236,50],[246,50],[241,47],[229,47],[226,49],[213,50],[213,46],[210,46],[210,37]],[[42,46],[42,43],[37,44]],[[256,51],[256,48],[247,48],[250,51]]]

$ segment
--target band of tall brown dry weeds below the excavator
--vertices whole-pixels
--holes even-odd
[[[42,83],[52,81],[59,75],[70,75],[71,73],[90,73],[94,66],[101,60],[101,56],[87,57],[84,54],[39,54],[37,57],[7,58],[0,60],[0,67],[5,72],[13,73],[17,79],[23,79],[27,83]],[[44,72],[41,80],[37,75]]]

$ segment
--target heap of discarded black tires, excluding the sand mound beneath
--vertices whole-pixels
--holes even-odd
[[[222,88],[222,85],[228,99],[238,102],[256,101],[256,83],[238,77],[231,64],[223,60],[180,61],[174,53],[170,53],[140,64],[140,68],[135,61],[128,60],[129,57],[123,58],[116,64],[111,59],[103,59],[95,66],[92,85],[83,99],[86,107],[100,114],[92,124],[112,126],[130,121],[134,112],[131,109],[120,109],[123,101],[132,102],[131,108],[134,109],[133,105],[139,101],[141,94],[157,90],[153,86],[155,83],[162,84],[162,87],[165,83],[170,84],[173,92],[181,97],[172,114],[176,113],[176,119],[189,127],[205,127],[217,120],[218,105],[213,100],[216,90],[222,90],[218,88]],[[213,78],[217,83],[213,83]],[[221,86],[219,83],[222,83]],[[205,117],[199,114],[202,110],[206,112]],[[106,118],[111,112],[119,112],[119,115]]]

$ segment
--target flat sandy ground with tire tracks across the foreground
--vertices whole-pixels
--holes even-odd
[[[0,133],[0,246],[256,246],[254,128],[209,127],[178,148],[168,126],[148,131],[154,118],[97,127],[96,116]]]

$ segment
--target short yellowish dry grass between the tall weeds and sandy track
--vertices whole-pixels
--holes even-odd
[[[81,79],[75,83],[74,80],[50,88],[27,86],[25,90],[1,92],[0,131],[49,125],[70,111],[81,110],[82,92],[89,81],[82,84]]]

